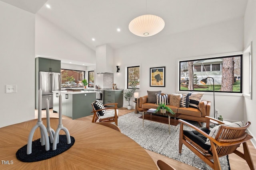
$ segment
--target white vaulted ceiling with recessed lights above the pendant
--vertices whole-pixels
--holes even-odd
[[[46,4],[51,8],[46,8]],[[116,49],[242,18],[247,0],[48,0],[46,4],[38,15],[95,50],[102,44]],[[152,37],[132,34],[128,24],[144,14],[163,18],[164,29]]]

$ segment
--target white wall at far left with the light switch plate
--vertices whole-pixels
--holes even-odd
[[[35,15],[0,1],[0,127],[34,119]],[[16,84],[17,93],[5,93]]]

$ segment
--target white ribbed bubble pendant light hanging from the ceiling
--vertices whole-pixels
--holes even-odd
[[[164,29],[164,20],[155,15],[142,15],[129,23],[129,30],[140,37],[155,35]]]

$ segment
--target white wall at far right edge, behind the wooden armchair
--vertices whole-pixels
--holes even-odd
[[[244,98],[244,120],[250,121],[250,133],[254,136],[254,146],[256,146],[256,1],[248,0],[244,16],[244,47],[252,42],[252,100]]]

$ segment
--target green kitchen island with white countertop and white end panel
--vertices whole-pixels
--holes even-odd
[[[92,102],[96,101],[96,92],[92,91],[53,91],[53,111],[59,112],[59,95],[62,96],[62,115],[78,119],[92,115]]]

